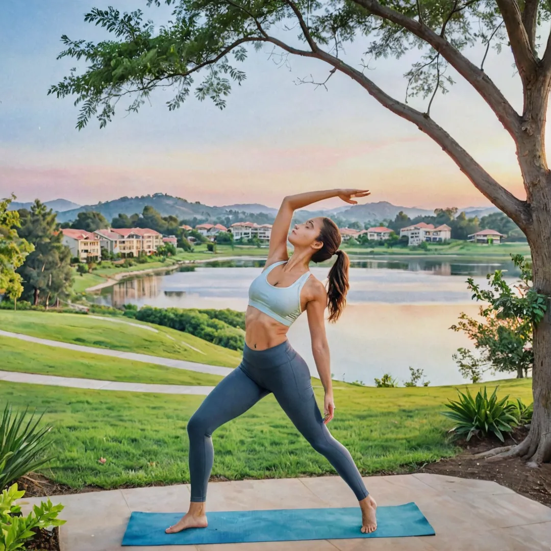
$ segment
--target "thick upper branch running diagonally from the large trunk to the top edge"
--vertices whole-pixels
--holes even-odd
[[[376,0],[353,0],[369,12],[388,21],[392,21],[432,46],[450,65],[467,80],[482,96],[494,111],[501,124],[511,134],[515,143],[522,136],[521,117],[513,109],[509,101],[484,71],[453,47],[445,37],[436,34],[432,29],[419,21],[415,21],[402,13],[386,6],[381,6]]]

